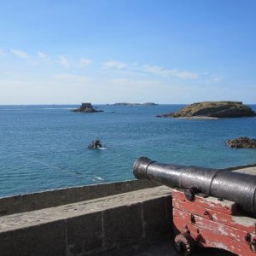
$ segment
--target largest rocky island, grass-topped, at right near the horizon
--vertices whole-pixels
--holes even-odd
[[[242,102],[198,102],[191,104],[175,113],[165,113],[157,117],[173,117],[188,119],[218,119],[252,117],[256,113]]]

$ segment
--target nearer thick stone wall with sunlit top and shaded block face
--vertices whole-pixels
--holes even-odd
[[[98,255],[168,236],[172,189],[160,186],[0,218],[1,256]]]

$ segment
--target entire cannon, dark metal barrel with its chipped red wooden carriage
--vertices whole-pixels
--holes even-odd
[[[162,164],[147,157],[134,163],[133,173],[172,188],[178,253],[189,255],[200,246],[256,256],[256,176]]]

